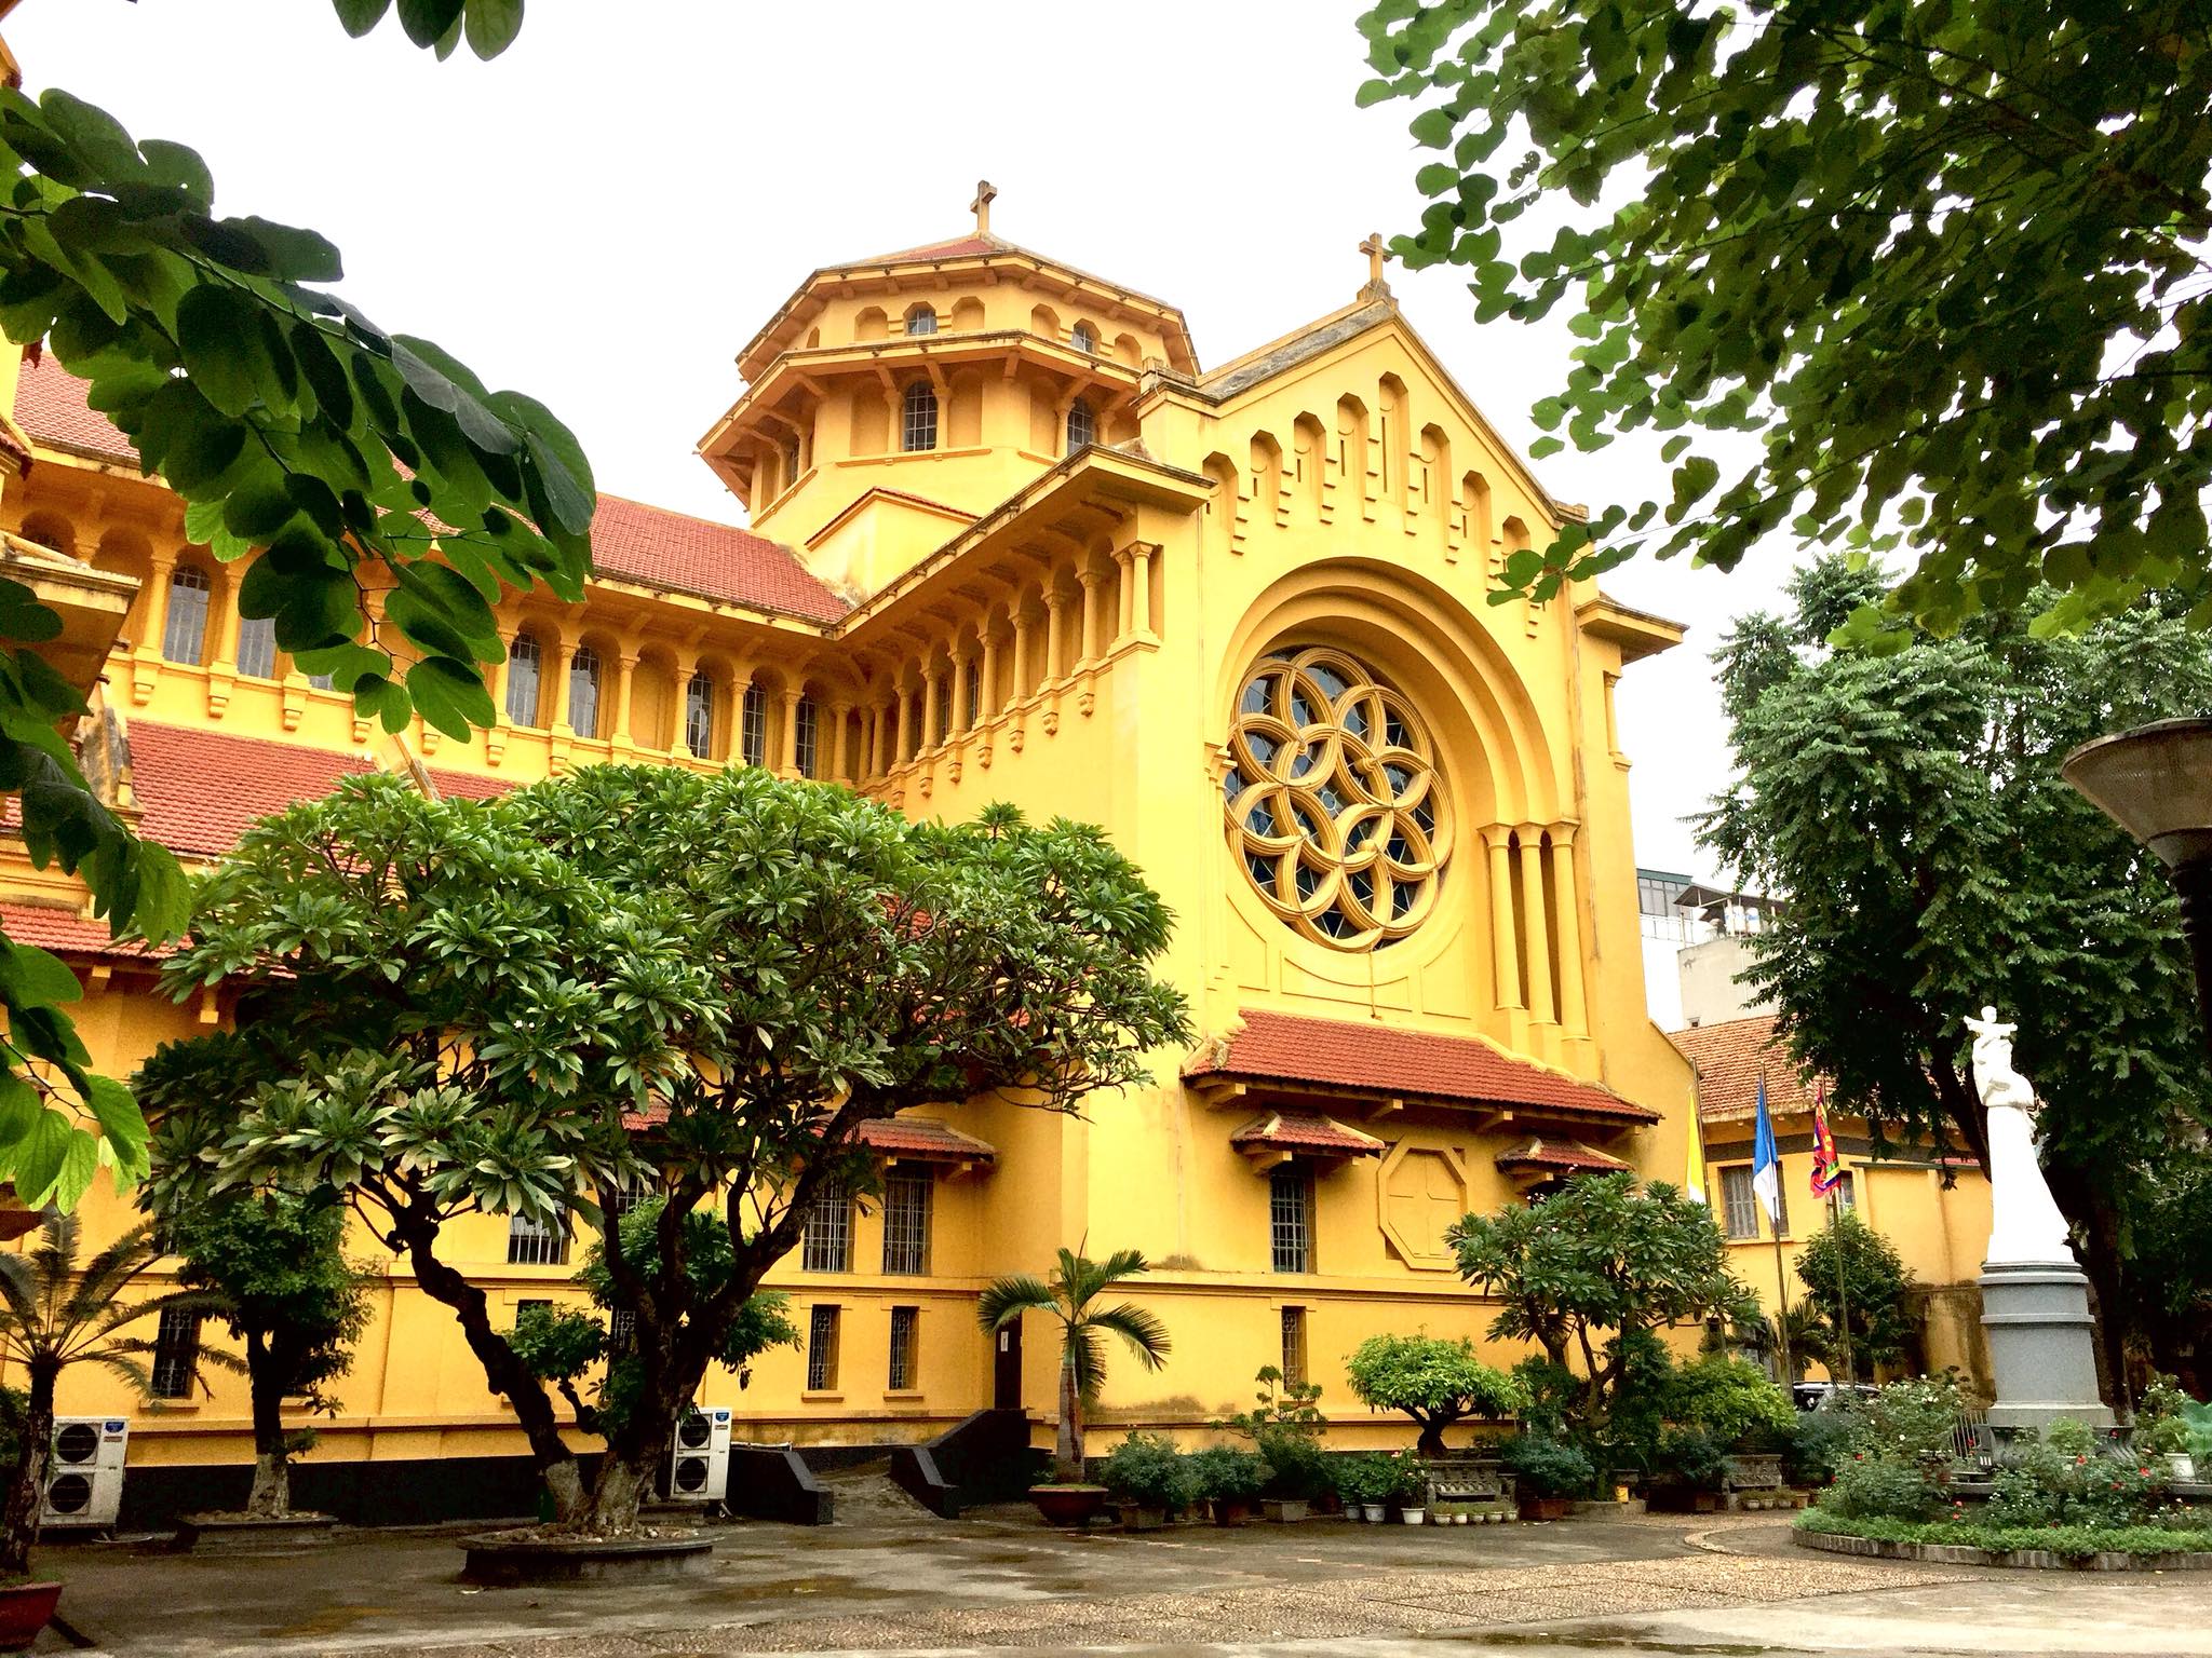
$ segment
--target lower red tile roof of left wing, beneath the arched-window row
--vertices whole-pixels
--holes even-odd
[[[131,723],[131,785],[144,814],[139,833],[186,858],[221,858],[254,818],[321,800],[338,778],[374,769],[365,754]],[[431,769],[429,778],[440,794],[462,800],[487,800],[509,787],[467,772]]]

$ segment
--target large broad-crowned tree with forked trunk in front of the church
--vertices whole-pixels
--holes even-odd
[[[1004,1092],[1073,1112],[1188,1039],[1150,964],[1170,917],[1095,829],[916,825],[761,769],[595,767],[493,802],[396,778],[250,829],[168,962],[237,1035],[159,1050],[217,1178],[330,1189],[453,1309],[564,1523],[637,1521],[677,1415],[816,1194],[865,1189],[863,1123]],[[644,1187],[657,1253],[599,1218]],[[712,1205],[730,1269],[695,1278]],[[449,1258],[467,1211],[599,1229],[635,1395],[586,1490],[540,1377]]]

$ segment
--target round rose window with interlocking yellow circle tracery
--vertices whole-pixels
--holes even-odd
[[[1436,904],[1451,856],[1436,747],[1413,705],[1340,650],[1261,659],[1221,798],[1252,886],[1307,937],[1380,948]]]

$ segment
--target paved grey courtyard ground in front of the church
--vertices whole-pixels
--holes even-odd
[[[212,1559],[49,1550],[64,1616],[161,1658],[690,1658],[1022,1647],[1135,1654],[2205,1654],[2212,1574],[1845,1561],[1772,1517],[1407,1530],[1312,1521],[1062,1536],[960,1523],[730,1525],[714,1572],[624,1589],[471,1589],[453,1534]],[[40,1651],[73,1643],[49,1631]]]

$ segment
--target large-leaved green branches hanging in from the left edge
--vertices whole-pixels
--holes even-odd
[[[385,9],[336,0],[354,33]],[[400,22],[440,55],[465,33],[491,57],[522,0],[405,0]],[[133,139],[66,91],[0,88],[0,332],[91,382],[142,471],[184,497],[195,542],[252,559],[239,610],[274,619],[283,650],[389,732],[414,712],[453,736],[491,725],[491,604],[507,586],[573,601],[591,568],[597,497],[568,429],[330,292],[330,241],[217,219],[199,155]],[[31,588],[0,579],[0,794],[18,798],[35,867],[80,875],[115,937],[159,944],[184,924],[184,878],[100,802],[60,736],[86,712],[40,657],[60,632]],[[88,1070],[66,1015],[80,995],[58,957],[0,935],[0,1178],[33,1207],[75,1207],[102,1165],[119,1185],[146,1174],[146,1121]]]

